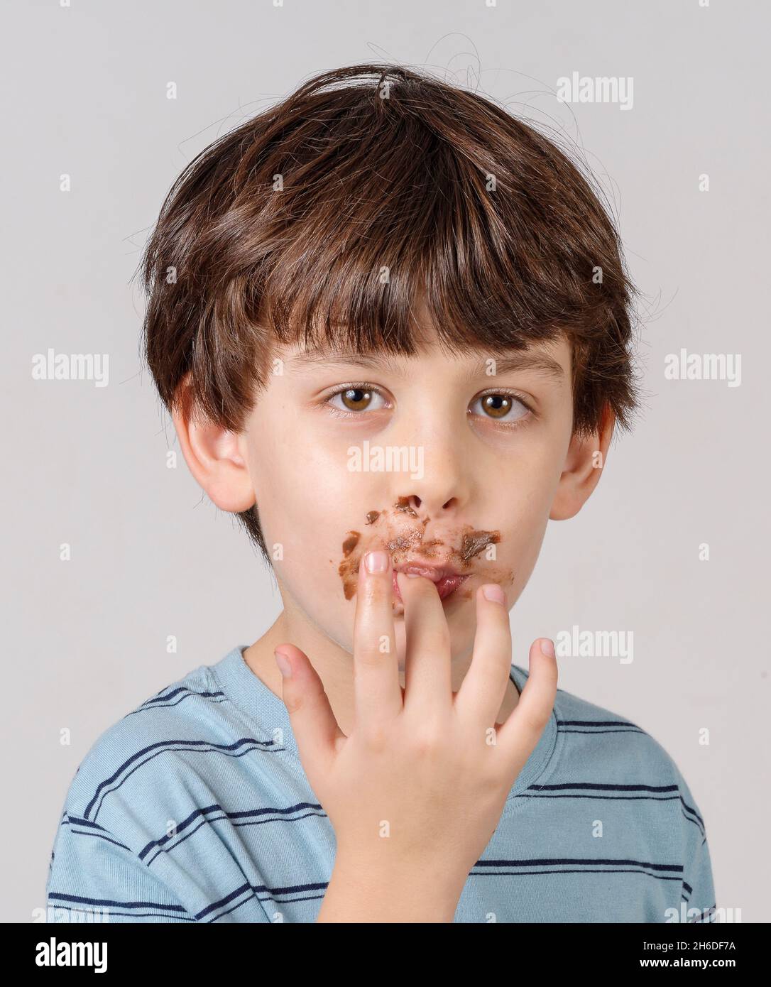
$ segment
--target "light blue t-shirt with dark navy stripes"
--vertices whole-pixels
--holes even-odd
[[[316,920],[335,832],[244,646],[93,744],[56,832],[48,921]],[[521,692],[527,672],[511,678]],[[709,922],[715,907],[704,820],[672,759],[558,689],[455,922]]]

